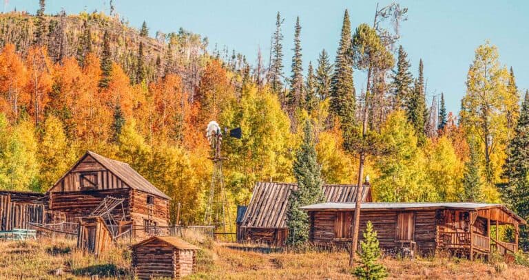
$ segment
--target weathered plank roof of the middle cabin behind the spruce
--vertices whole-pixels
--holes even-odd
[[[371,188],[364,184],[362,201],[371,200]],[[295,183],[257,182],[250,203],[240,220],[240,226],[249,228],[287,228],[287,204],[290,193],[298,189]],[[356,185],[324,184],[327,202],[353,202]]]

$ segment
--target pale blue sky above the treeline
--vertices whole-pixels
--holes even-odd
[[[10,0],[6,10],[27,10],[34,13],[38,0]],[[47,13],[64,8],[69,14],[82,10],[106,10],[106,1],[47,1]],[[221,48],[245,54],[255,63],[258,46],[268,57],[270,36],[276,12],[284,17],[284,65],[289,75],[295,17],[302,25],[304,68],[315,63],[325,48],[334,56],[338,46],[344,9],[349,9],[353,28],[373,22],[376,1],[315,0],[178,0],[138,1],[114,0],[116,12],[132,26],[145,20],[152,35],[185,28],[209,38]],[[380,6],[391,1],[380,1]],[[449,111],[458,111],[466,87],[466,72],[473,61],[474,50],[489,40],[499,47],[502,64],[513,67],[519,89],[529,88],[529,1],[400,1],[408,8],[408,21],[402,24],[400,44],[408,52],[416,74],[419,58],[424,61],[427,98],[444,92]],[[365,75],[355,73],[355,86],[360,91]]]

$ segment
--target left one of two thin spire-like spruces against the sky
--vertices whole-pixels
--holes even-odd
[[[276,94],[280,94],[283,89],[283,34],[281,33],[281,25],[283,19],[278,12],[276,17],[276,32],[273,33],[273,44],[271,50],[271,65],[270,65],[270,74],[269,74],[269,83],[271,85],[272,91]]]

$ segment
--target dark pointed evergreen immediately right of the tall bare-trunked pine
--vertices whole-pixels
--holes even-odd
[[[393,79],[395,87],[395,103],[393,108],[405,109],[405,105],[412,94],[413,76],[410,72],[410,62],[408,54],[404,51],[402,45],[399,47],[399,56],[397,61],[397,73]]]

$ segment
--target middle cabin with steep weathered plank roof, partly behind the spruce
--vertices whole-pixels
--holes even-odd
[[[287,239],[287,204],[298,184],[258,182],[247,208],[238,208],[237,241],[253,241],[282,246]],[[327,202],[354,202],[356,185],[324,184]],[[371,202],[371,188],[364,184],[362,201]]]

